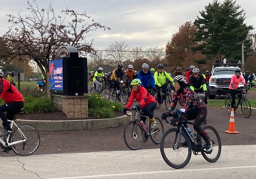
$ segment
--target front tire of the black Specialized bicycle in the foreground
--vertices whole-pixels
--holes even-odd
[[[184,137],[184,139],[186,140],[185,142],[187,142],[187,144],[188,144],[188,147],[187,147],[187,148],[188,148],[188,156],[187,156],[186,160],[185,160],[183,163],[181,163],[181,164],[174,164],[174,163],[172,163],[172,162],[167,158],[167,156],[165,155],[165,152],[164,152],[164,142],[165,142],[165,138],[166,138],[166,136],[167,136],[168,134],[170,134],[170,133],[172,133],[172,132],[177,133],[177,128],[170,128],[170,129],[168,129],[168,130],[164,133],[164,135],[162,136],[161,142],[160,142],[160,151],[161,151],[161,155],[162,155],[164,161],[165,161],[170,167],[179,169],[179,168],[185,167],[185,166],[188,164],[188,162],[189,162],[189,160],[190,160],[190,158],[191,158],[191,154],[192,154],[192,146],[191,146],[190,139],[188,138],[188,136],[186,135],[186,133],[182,130],[182,131],[181,131],[181,136]],[[177,134],[178,134],[178,133],[177,133]],[[167,140],[167,141],[169,142],[169,140]],[[174,142],[174,141],[173,141],[173,142]],[[179,149],[175,149],[175,150],[174,150],[174,149],[173,149],[174,146],[175,146],[175,144],[172,145],[172,151],[179,150]],[[181,151],[181,150],[182,150],[182,148],[180,148],[180,151]],[[173,156],[173,155],[171,155],[171,156]]]

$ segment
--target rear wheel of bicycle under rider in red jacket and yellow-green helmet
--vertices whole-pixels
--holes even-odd
[[[152,142],[154,142],[155,144],[160,144],[161,138],[164,134],[164,126],[162,121],[159,118],[155,118],[155,120],[156,120],[156,127],[153,129],[150,127],[151,121],[149,122],[149,134]]]

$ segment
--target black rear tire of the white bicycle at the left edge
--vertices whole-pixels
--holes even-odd
[[[25,127],[28,127],[27,130],[25,130]],[[20,130],[22,131],[22,133],[24,134],[24,136],[27,138],[27,140],[25,142],[21,142],[21,143],[18,143],[18,144],[14,144],[14,145],[11,145],[12,147],[12,150],[14,153],[16,153],[17,155],[20,155],[20,156],[28,156],[28,155],[31,155],[32,153],[36,152],[36,150],[38,149],[39,147],[39,144],[40,144],[40,135],[39,133],[37,132],[37,130],[35,128],[33,128],[32,126],[29,126],[29,125],[20,125],[19,126]],[[23,128],[23,129],[22,129]],[[30,135],[31,134],[35,134],[34,138],[32,138]],[[15,128],[12,132],[12,135],[11,135],[11,140],[12,142],[15,142],[15,141],[19,141],[17,139],[15,139],[16,135],[18,136],[19,140],[23,140],[24,137],[21,135],[20,131],[18,130],[18,128]],[[21,153],[20,151],[24,151],[25,149],[28,149],[30,145],[28,145],[27,143],[28,142],[32,142],[32,140],[35,142],[35,146],[33,147],[33,150],[29,150],[30,152],[24,152],[24,153]],[[19,148],[19,146],[21,145],[22,149]],[[30,144],[30,143],[29,143]]]

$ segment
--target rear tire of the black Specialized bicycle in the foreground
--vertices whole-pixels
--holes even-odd
[[[216,135],[216,137],[217,137],[217,140],[218,140],[218,152],[217,152],[216,157],[214,157],[213,159],[211,159],[211,158],[208,157],[208,155],[211,155],[212,153],[214,153],[213,151],[214,151],[214,148],[216,147],[216,145],[214,146],[214,144],[216,144],[216,142],[214,142],[214,141],[212,140],[213,137],[211,137],[211,136],[210,136],[210,138],[211,138],[211,140],[214,142],[214,144],[212,144],[212,153],[211,153],[211,154],[206,154],[205,151],[201,151],[201,153],[202,153],[202,155],[203,155],[203,157],[204,157],[204,159],[205,159],[206,161],[211,162],[211,163],[216,162],[216,161],[220,158],[220,154],[221,154],[221,141],[220,141],[220,136],[219,136],[217,130],[216,130],[215,128],[213,128],[212,126],[203,126],[202,129],[203,129],[204,131],[207,130],[207,129],[211,129],[212,132],[213,132],[213,133]],[[206,132],[207,132],[207,131],[206,131]],[[208,130],[207,135],[209,136],[209,134],[210,134],[210,132],[209,132],[209,130]],[[203,139],[203,140],[204,140],[204,139]],[[201,136],[200,136],[199,141],[200,141],[200,142],[202,141],[202,137],[201,137]],[[203,145],[203,144],[202,144],[202,145]]]

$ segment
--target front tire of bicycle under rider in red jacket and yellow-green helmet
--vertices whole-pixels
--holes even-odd
[[[126,130],[128,130],[128,128],[130,128],[130,125],[132,125],[132,126],[131,126],[131,128],[132,128],[132,135],[129,134],[129,132],[131,132],[131,131],[127,131],[128,136],[131,136],[131,138],[133,138],[133,139],[137,139],[138,136],[141,134],[141,139],[140,139],[140,138],[138,139],[138,145],[136,145],[136,147],[132,147],[131,144],[128,144],[128,143],[130,143],[130,142],[128,142],[128,138],[127,138],[126,135],[125,135],[125,134],[126,134]],[[134,129],[134,128],[135,128],[135,129]],[[134,130],[135,130],[135,131],[134,131]],[[137,131],[140,131],[140,132],[137,132]],[[135,133],[134,133],[134,132],[135,132]],[[136,123],[136,121],[130,121],[128,124],[126,124],[126,126],[125,126],[125,128],[124,128],[123,136],[124,136],[124,143],[125,143],[125,145],[126,145],[129,149],[135,151],[135,150],[138,150],[138,149],[141,147],[142,142],[143,142],[143,132],[142,132],[142,130],[140,129],[140,126]],[[132,141],[134,141],[134,140],[132,140]]]

